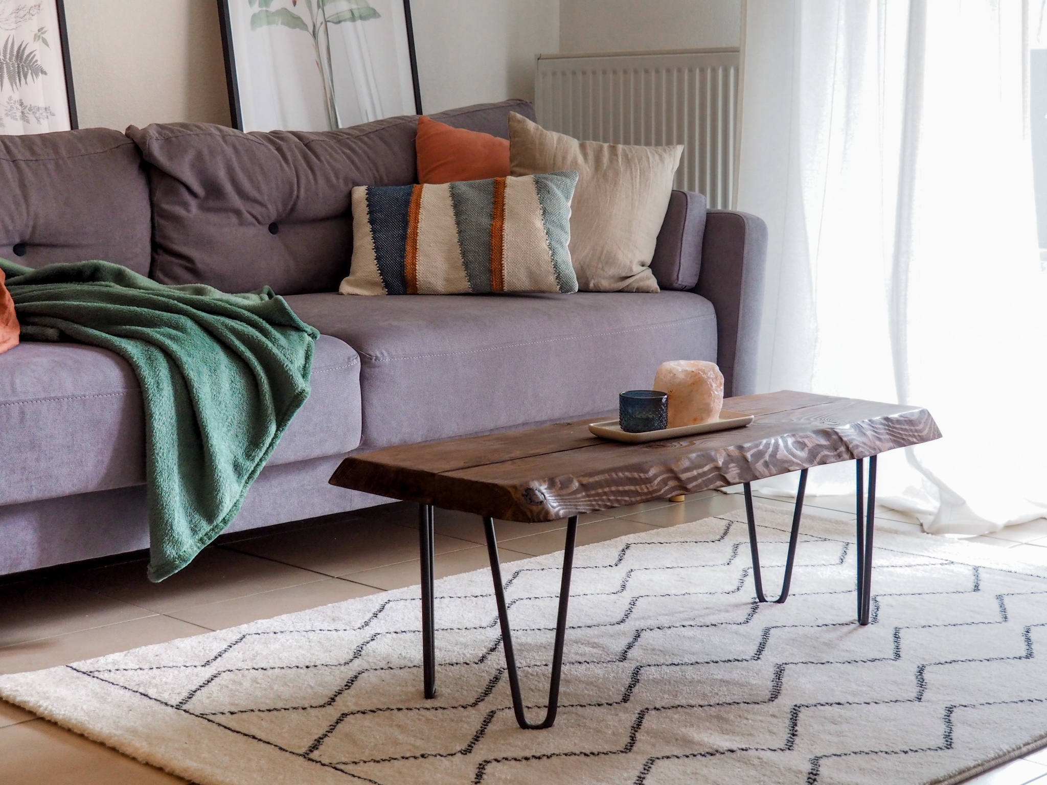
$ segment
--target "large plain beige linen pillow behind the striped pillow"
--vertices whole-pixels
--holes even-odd
[[[511,175],[578,173],[570,248],[580,291],[659,291],[649,265],[683,151],[578,141],[509,113]]]

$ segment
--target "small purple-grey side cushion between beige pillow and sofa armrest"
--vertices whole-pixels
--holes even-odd
[[[659,288],[686,291],[698,283],[705,230],[706,198],[689,190],[673,190],[651,259]]]

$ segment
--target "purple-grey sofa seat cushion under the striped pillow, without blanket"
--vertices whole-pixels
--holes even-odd
[[[360,355],[364,448],[617,408],[666,360],[716,360],[691,292],[287,297]]]

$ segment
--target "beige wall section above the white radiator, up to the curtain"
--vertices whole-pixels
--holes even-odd
[[[741,0],[560,0],[560,51],[738,46]]]

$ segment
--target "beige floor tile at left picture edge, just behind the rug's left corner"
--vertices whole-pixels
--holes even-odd
[[[0,673],[20,673],[101,657],[138,646],[161,644],[210,630],[164,615],[45,637],[0,649]]]

